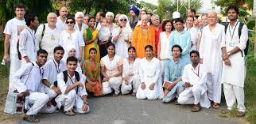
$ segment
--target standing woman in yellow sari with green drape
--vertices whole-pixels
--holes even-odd
[[[99,51],[98,30],[95,29],[95,18],[90,17],[88,24],[89,28],[86,28],[83,31],[83,39],[85,43],[84,60],[89,58],[90,48],[94,47],[97,51]],[[99,62],[99,54],[97,54],[95,61]]]

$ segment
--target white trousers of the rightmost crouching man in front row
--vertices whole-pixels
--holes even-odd
[[[201,107],[206,108],[211,106],[207,92],[204,91],[204,88],[196,85],[193,87],[184,88],[184,91],[180,93],[177,101],[180,104],[200,103]]]

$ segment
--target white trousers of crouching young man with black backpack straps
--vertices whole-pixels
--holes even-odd
[[[67,94],[60,94],[56,97],[55,101],[59,109],[64,106],[64,111],[70,111],[73,109],[76,102],[76,91],[72,89]]]

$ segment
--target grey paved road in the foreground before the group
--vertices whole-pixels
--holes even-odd
[[[62,113],[40,114],[40,124],[239,124],[235,118],[218,117],[219,110],[192,113],[190,106],[137,100],[132,96],[89,98],[89,114],[68,117]],[[28,123],[19,120],[17,123]]]

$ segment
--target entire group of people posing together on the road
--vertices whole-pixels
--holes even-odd
[[[137,99],[218,108],[221,84],[231,111],[245,115],[244,79],[248,29],[238,21],[239,9],[227,8],[230,21],[218,23],[217,13],[161,23],[156,14],[131,6],[129,16],[77,12],[48,13],[41,24],[25,6],[14,8],[6,23],[4,60],[10,58],[9,92],[25,96],[25,117],[38,122],[38,112],[65,115],[88,113],[87,96],[131,94]],[[37,28],[38,27],[38,28]],[[10,47],[10,51],[9,51]],[[9,57],[10,53],[10,57]],[[76,113],[75,113],[76,112]]]

